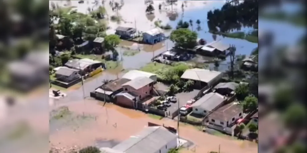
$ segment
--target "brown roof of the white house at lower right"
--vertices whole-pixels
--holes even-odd
[[[237,103],[229,103],[213,111],[209,116],[219,121],[229,121],[242,111],[242,107]]]

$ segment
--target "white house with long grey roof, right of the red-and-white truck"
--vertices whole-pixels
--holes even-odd
[[[198,99],[192,106],[192,112],[200,115],[207,115],[217,107],[223,105],[226,97],[218,93],[210,92]]]

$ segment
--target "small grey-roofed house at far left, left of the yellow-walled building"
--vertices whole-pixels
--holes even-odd
[[[67,83],[72,82],[74,80],[81,78],[78,72],[79,70],[76,69],[70,69],[68,67],[60,67],[55,73],[56,80]]]

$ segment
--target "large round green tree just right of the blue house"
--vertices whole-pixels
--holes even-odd
[[[170,40],[175,42],[177,47],[193,48],[196,45],[197,33],[189,29],[177,29],[171,32]]]

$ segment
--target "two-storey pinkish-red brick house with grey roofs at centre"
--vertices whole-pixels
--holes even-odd
[[[153,83],[154,80],[142,76],[122,84],[123,92],[116,95],[117,104],[133,108],[137,107],[136,103],[139,100],[142,100],[153,93]],[[135,105],[131,104],[132,101],[135,102]]]

